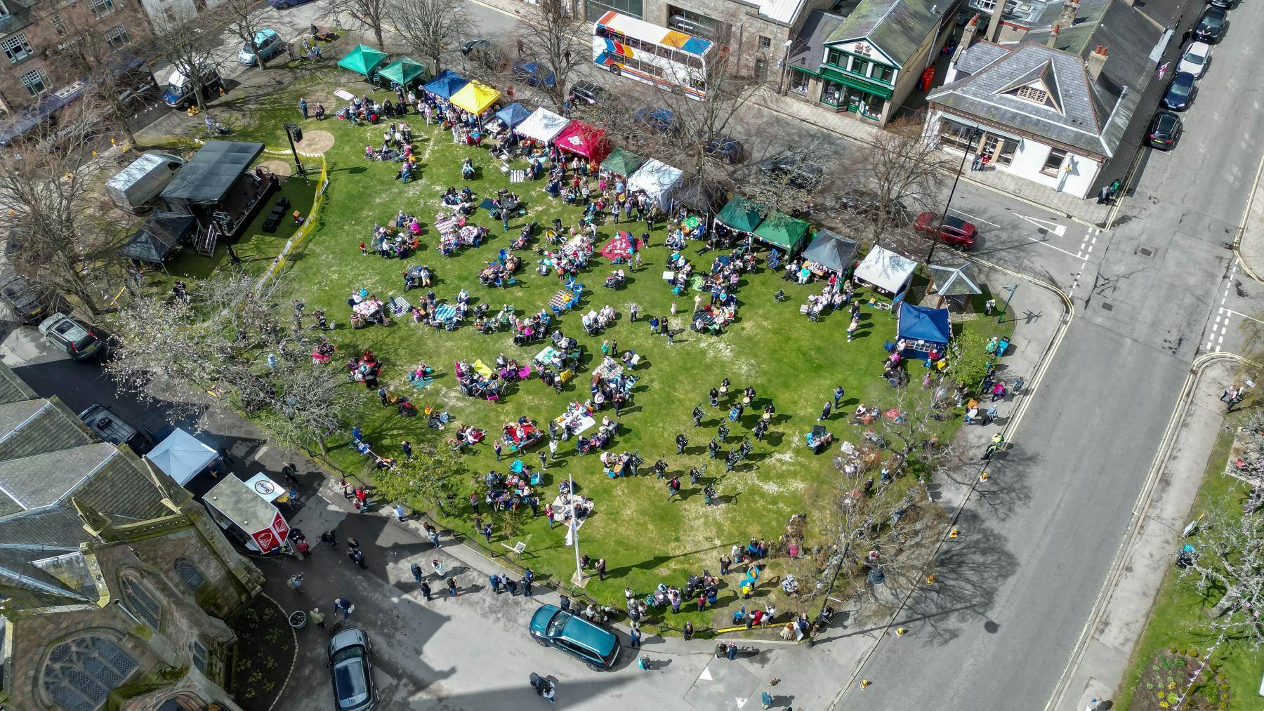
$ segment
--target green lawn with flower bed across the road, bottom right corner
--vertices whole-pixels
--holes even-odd
[[[1234,433],[1231,429],[1222,431],[1216,439],[1203,475],[1202,487],[1198,490],[1198,498],[1189,514],[1191,518],[1206,511],[1215,501],[1236,501],[1241,498],[1241,482],[1224,474],[1232,443]],[[1127,676],[1124,677],[1122,688],[1115,698],[1115,707],[1121,711],[1154,707],[1154,703],[1149,701],[1152,690],[1138,687],[1141,676],[1162,650],[1178,649],[1181,654],[1198,650],[1202,654],[1216,642],[1216,635],[1210,634],[1206,629],[1205,610],[1216,604],[1220,594],[1213,592],[1206,597],[1198,595],[1192,585],[1177,580],[1178,573],[1179,570],[1172,566],[1163,577],[1163,585],[1159,587],[1154,609],[1150,611],[1145,634],[1136,649],[1133,650],[1133,666]],[[1264,673],[1264,654],[1260,650],[1251,650],[1241,642],[1226,640],[1216,650],[1212,666],[1218,674],[1224,674],[1222,683],[1227,683],[1230,687],[1227,708],[1236,711],[1258,711],[1260,708],[1260,700],[1255,693],[1259,688],[1260,674]]]

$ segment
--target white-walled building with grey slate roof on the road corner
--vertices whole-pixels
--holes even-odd
[[[1067,1],[1020,28],[1009,19],[972,42],[971,20],[944,85],[927,100],[925,135],[948,150],[988,157],[1045,187],[1088,197],[1120,154],[1170,32],[1120,0]],[[1021,32],[1019,32],[1021,30]]]

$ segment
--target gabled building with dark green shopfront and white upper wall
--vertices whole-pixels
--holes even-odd
[[[963,0],[860,0],[814,11],[790,56],[789,95],[886,125],[934,64]]]

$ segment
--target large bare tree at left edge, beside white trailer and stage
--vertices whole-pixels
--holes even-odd
[[[0,205],[16,240],[14,269],[46,292],[72,297],[94,314],[121,277],[116,249],[126,226],[102,194],[101,162],[88,145],[100,119],[87,101],[66,107],[0,154]]]

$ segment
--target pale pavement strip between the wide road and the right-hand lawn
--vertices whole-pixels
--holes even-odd
[[[1237,361],[1212,356],[1193,366],[1173,413],[1098,604],[1059,683],[1050,708],[1081,711],[1092,698],[1110,698],[1124,682],[1145,631],[1154,596],[1173,565],[1207,457],[1224,422],[1220,402],[1235,380]]]

